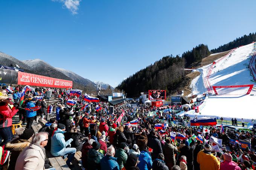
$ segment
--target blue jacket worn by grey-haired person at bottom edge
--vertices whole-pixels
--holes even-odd
[[[104,156],[101,159],[101,167],[104,167],[102,169],[104,170],[119,170],[119,165],[116,161],[117,158],[114,158],[113,156]]]

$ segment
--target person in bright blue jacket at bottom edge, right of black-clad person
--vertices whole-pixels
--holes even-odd
[[[140,152],[139,161],[137,167],[139,167],[140,170],[150,170],[152,168],[152,158],[147,149]]]

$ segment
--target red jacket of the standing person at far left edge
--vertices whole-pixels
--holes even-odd
[[[7,105],[0,105],[0,128],[9,127],[12,125],[12,117],[18,112],[19,110],[15,107],[12,109]]]

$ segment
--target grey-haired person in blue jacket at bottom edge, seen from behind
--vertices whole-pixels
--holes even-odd
[[[119,165],[117,163],[117,158],[114,158],[115,148],[111,145],[107,149],[107,155],[101,159],[101,167],[104,170],[119,170]]]

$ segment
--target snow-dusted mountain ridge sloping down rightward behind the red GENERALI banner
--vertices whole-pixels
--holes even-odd
[[[67,77],[71,78],[73,81],[80,83],[80,84],[84,84],[85,86],[92,86],[92,87],[96,87],[96,84],[93,83],[91,80],[88,80],[87,78],[81,77],[80,75],[63,69],[63,68],[55,68],[58,71],[62,72],[63,74],[65,74]]]

